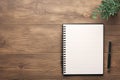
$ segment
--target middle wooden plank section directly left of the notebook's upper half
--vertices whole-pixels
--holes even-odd
[[[0,54],[61,52],[62,25],[1,25]]]

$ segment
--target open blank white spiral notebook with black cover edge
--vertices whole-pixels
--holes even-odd
[[[103,24],[63,24],[63,75],[103,75]]]

